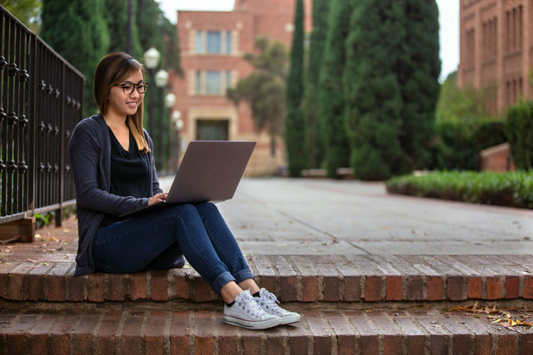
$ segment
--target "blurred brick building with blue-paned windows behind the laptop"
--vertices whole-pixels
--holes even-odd
[[[180,112],[183,146],[192,140],[253,140],[257,146],[247,175],[274,173],[285,165],[285,147],[278,139],[271,157],[267,133],[255,132],[247,103],[235,106],[226,88],[252,71],[242,59],[254,51],[255,37],[267,35],[289,49],[294,31],[294,0],[236,0],[232,11],[178,11],[184,77],[171,77],[176,95],[173,110]],[[304,1],[305,28],[311,27],[311,0]]]

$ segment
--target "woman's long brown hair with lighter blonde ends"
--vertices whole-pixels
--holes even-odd
[[[144,73],[142,64],[124,52],[110,53],[100,60],[94,73],[93,95],[101,114],[105,114],[108,110],[109,103],[107,98],[111,87],[123,83],[130,73],[139,69]],[[144,139],[144,132],[142,131],[143,110],[144,104],[141,101],[139,107],[137,107],[137,112],[126,117],[126,125],[128,125],[137,143],[137,148],[142,150],[143,153],[147,153],[150,148],[148,142]]]

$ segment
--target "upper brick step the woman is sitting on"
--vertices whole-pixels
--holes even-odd
[[[285,255],[247,257],[257,283],[284,302],[533,299],[533,256]],[[32,259],[33,260],[33,259]],[[217,300],[194,269],[94,273],[74,262],[0,263],[0,300],[108,302]]]

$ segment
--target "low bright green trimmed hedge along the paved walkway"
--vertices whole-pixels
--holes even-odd
[[[401,175],[385,185],[389,193],[533,209],[533,170],[437,171]]]

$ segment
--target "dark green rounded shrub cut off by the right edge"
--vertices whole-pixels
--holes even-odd
[[[533,101],[509,107],[506,133],[516,167],[533,168]]]

